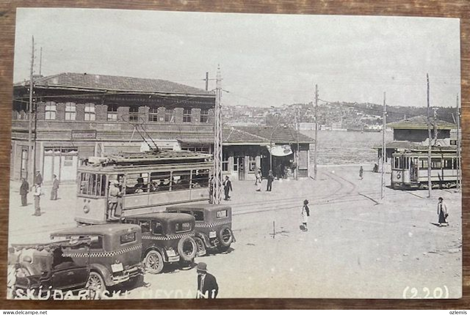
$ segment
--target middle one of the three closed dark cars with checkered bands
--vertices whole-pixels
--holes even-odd
[[[149,213],[127,216],[125,223],[141,226],[145,270],[160,273],[165,263],[191,264],[197,246],[194,218],[182,213]]]

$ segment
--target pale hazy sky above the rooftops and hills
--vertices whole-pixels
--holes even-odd
[[[20,8],[14,81],[77,72],[164,79],[205,89],[222,77],[223,105],[321,102],[455,106],[458,19]],[[215,88],[215,80],[209,89]]]

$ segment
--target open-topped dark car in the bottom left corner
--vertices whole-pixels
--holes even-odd
[[[50,299],[55,291],[76,292],[87,288],[90,267],[78,265],[63,252],[74,246],[88,247],[89,240],[12,245],[8,256],[11,298]]]

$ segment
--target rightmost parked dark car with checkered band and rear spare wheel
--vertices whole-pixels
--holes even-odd
[[[187,213],[196,220],[197,255],[207,254],[207,249],[226,251],[235,242],[232,232],[232,208],[217,204],[188,204],[166,207],[169,213]]]

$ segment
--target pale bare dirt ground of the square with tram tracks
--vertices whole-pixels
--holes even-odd
[[[232,200],[224,203],[233,208],[236,242],[228,253],[196,258],[217,278],[219,297],[460,297],[461,193],[433,190],[428,198],[427,190],[385,188],[381,199],[380,174],[364,170],[360,180],[359,166],[319,167],[317,180],[276,180],[272,192],[233,181]],[[11,201],[10,243],[45,240],[53,230],[74,225],[67,207],[74,188],[61,189],[63,199],[45,200],[39,218],[31,216],[31,206]],[[447,204],[449,226],[435,225],[439,196]],[[307,232],[299,228],[304,199],[311,210]],[[195,268],[169,266],[162,274],[146,274],[145,281],[151,286],[120,298],[196,296]]]

